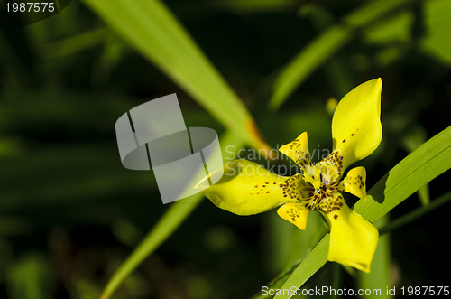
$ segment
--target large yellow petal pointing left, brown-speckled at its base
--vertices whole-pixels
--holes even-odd
[[[203,189],[198,182],[197,187]],[[237,215],[253,215],[271,210],[285,202],[305,199],[307,189],[299,173],[284,177],[247,160],[224,165],[224,175],[202,193],[218,208]]]

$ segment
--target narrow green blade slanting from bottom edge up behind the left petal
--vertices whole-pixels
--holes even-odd
[[[220,139],[220,145],[223,156],[225,153],[235,153],[243,147],[243,143],[237,140],[235,135],[231,134],[223,135]],[[157,222],[155,227],[152,228],[147,236],[143,238],[143,241],[134,248],[132,254],[127,257],[124,263],[115,271],[115,274],[108,281],[106,288],[101,295],[101,299],[109,298],[111,294],[115,292],[115,289],[121,285],[124,279],[179,228],[202,199],[203,195],[199,192],[189,198],[172,203],[170,208],[161,216],[161,219]]]

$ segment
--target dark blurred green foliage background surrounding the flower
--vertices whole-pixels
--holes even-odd
[[[328,100],[381,77],[382,144],[360,163],[371,187],[451,123],[451,1],[397,0],[383,8],[388,2],[179,0],[164,5],[272,147],[308,131],[310,150],[331,148]],[[205,103],[118,30],[120,23],[125,30],[128,22],[133,28],[134,19],[117,14],[105,22],[95,7],[91,1],[73,1],[23,27],[14,27],[2,8],[1,298],[98,298],[168,208],[152,172],[121,164],[115,120],[124,112],[175,92],[187,126],[226,131]],[[145,13],[136,20],[145,19]],[[158,48],[158,41],[141,42]],[[204,78],[200,85],[203,80],[208,84]],[[288,81],[292,89],[284,87]],[[393,210],[391,219],[428,205],[449,190],[448,184],[444,173]],[[391,285],[449,285],[449,250],[436,245],[447,238],[448,207],[391,231]],[[112,297],[252,297],[287,263],[293,265],[288,257],[304,257],[322,237],[327,226],[315,217],[311,221],[318,222],[321,233],[309,232],[307,245],[293,247],[300,231],[278,219],[275,210],[238,217],[202,201]],[[334,264],[324,266],[307,287],[330,285],[337,272],[335,283],[357,287],[355,274]]]

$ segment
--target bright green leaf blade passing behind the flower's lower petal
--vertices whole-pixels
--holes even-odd
[[[410,197],[419,186],[430,182],[449,168],[451,168],[451,126],[430,138],[396,164],[368,192],[366,201],[358,201],[355,204],[354,210],[367,220],[375,222]],[[299,288],[326,264],[328,240],[327,234],[281,286],[282,289]],[[291,295],[278,295],[274,298],[291,298]]]

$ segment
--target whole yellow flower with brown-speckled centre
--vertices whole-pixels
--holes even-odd
[[[234,160],[224,165],[221,180],[202,192],[217,207],[237,215],[281,205],[277,213],[299,229],[306,229],[308,212],[316,209],[330,227],[328,260],[369,272],[379,232],[351,210],[341,194],[365,199],[365,169],[355,167],[340,179],[349,165],[372,154],[381,142],[381,91],[382,79],[373,79],[345,95],[332,119],[333,151],[317,164],[309,158],[306,132],[279,149],[302,173],[284,177],[259,164]]]

